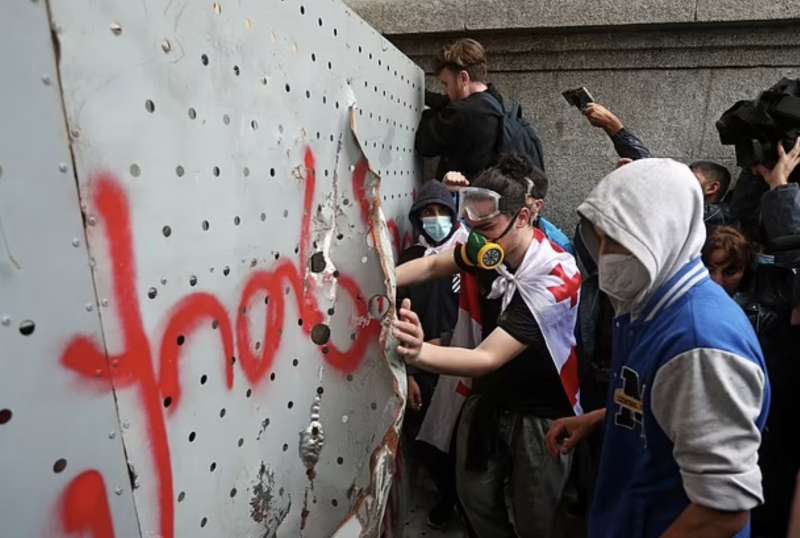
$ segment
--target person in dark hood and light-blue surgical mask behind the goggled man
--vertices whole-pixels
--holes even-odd
[[[422,185],[411,206],[409,220],[417,242],[400,254],[398,264],[452,249],[455,239],[462,235],[458,232],[460,228],[453,195],[435,179]],[[458,317],[459,283],[460,275],[455,275],[397,290],[398,303],[404,298],[411,299],[414,311],[425,327],[425,334],[435,343],[447,344],[450,340]],[[455,462],[452,454],[445,454],[416,439],[439,376],[413,367],[408,367],[407,371],[407,409],[411,412],[406,414],[404,435],[412,447],[413,456],[425,466],[439,491],[439,502],[428,514],[428,525],[442,528],[451,518],[458,498]]]

